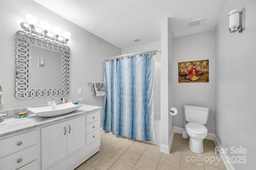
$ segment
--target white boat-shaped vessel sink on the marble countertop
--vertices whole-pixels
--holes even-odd
[[[27,109],[40,117],[54,117],[75,111],[82,105],[74,105],[72,102],[68,102],[56,106],[30,107]]]

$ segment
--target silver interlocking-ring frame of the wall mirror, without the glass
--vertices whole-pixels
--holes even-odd
[[[70,48],[60,43],[52,42],[32,34],[16,32],[16,71],[15,71],[15,96],[18,99],[31,99],[38,97],[64,96],[69,94],[70,77]],[[62,89],[28,89],[28,45],[36,44],[48,49],[62,52]]]

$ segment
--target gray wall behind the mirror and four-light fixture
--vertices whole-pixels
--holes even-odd
[[[46,104],[50,97],[37,99],[17,99],[15,97],[15,33],[22,30],[20,22],[26,21],[25,14],[32,14],[40,20],[58,26],[71,33],[67,45],[70,53],[70,95],[68,100],[84,99],[88,105],[104,107],[104,97],[92,95],[92,85],[87,81],[104,81],[104,62],[108,57],[121,54],[121,49],[91,34],[83,28],[62,18],[34,1],[0,1],[0,82],[3,87],[5,109]],[[65,10],[65,9],[64,9]],[[82,18],[82,16],[80,16]],[[51,29],[50,28],[50,29]],[[78,95],[78,88],[82,95]],[[54,97],[60,101],[61,97]],[[101,127],[103,126],[103,109],[101,109]]]

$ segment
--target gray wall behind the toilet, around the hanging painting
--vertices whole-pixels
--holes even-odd
[[[174,38],[174,106],[178,109],[174,127],[184,128],[183,105],[210,108],[205,125],[214,133],[214,30]],[[208,83],[178,83],[178,63],[184,61],[209,60]]]

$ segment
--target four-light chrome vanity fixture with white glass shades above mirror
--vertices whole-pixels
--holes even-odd
[[[37,18],[33,15],[26,14],[27,22],[21,22],[20,26],[25,31],[30,32],[32,34],[36,34],[38,36],[41,36],[43,38],[47,38],[50,40],[53,40],[55,42],[67,44],[71,33],[67,31],[63,31],[63,35],[60,35],[61,28],[58,28],[56,26],[52,27],[53,32],[49,30],[50,24],[46,21],[40,21],[41,27],[36,26]]]

